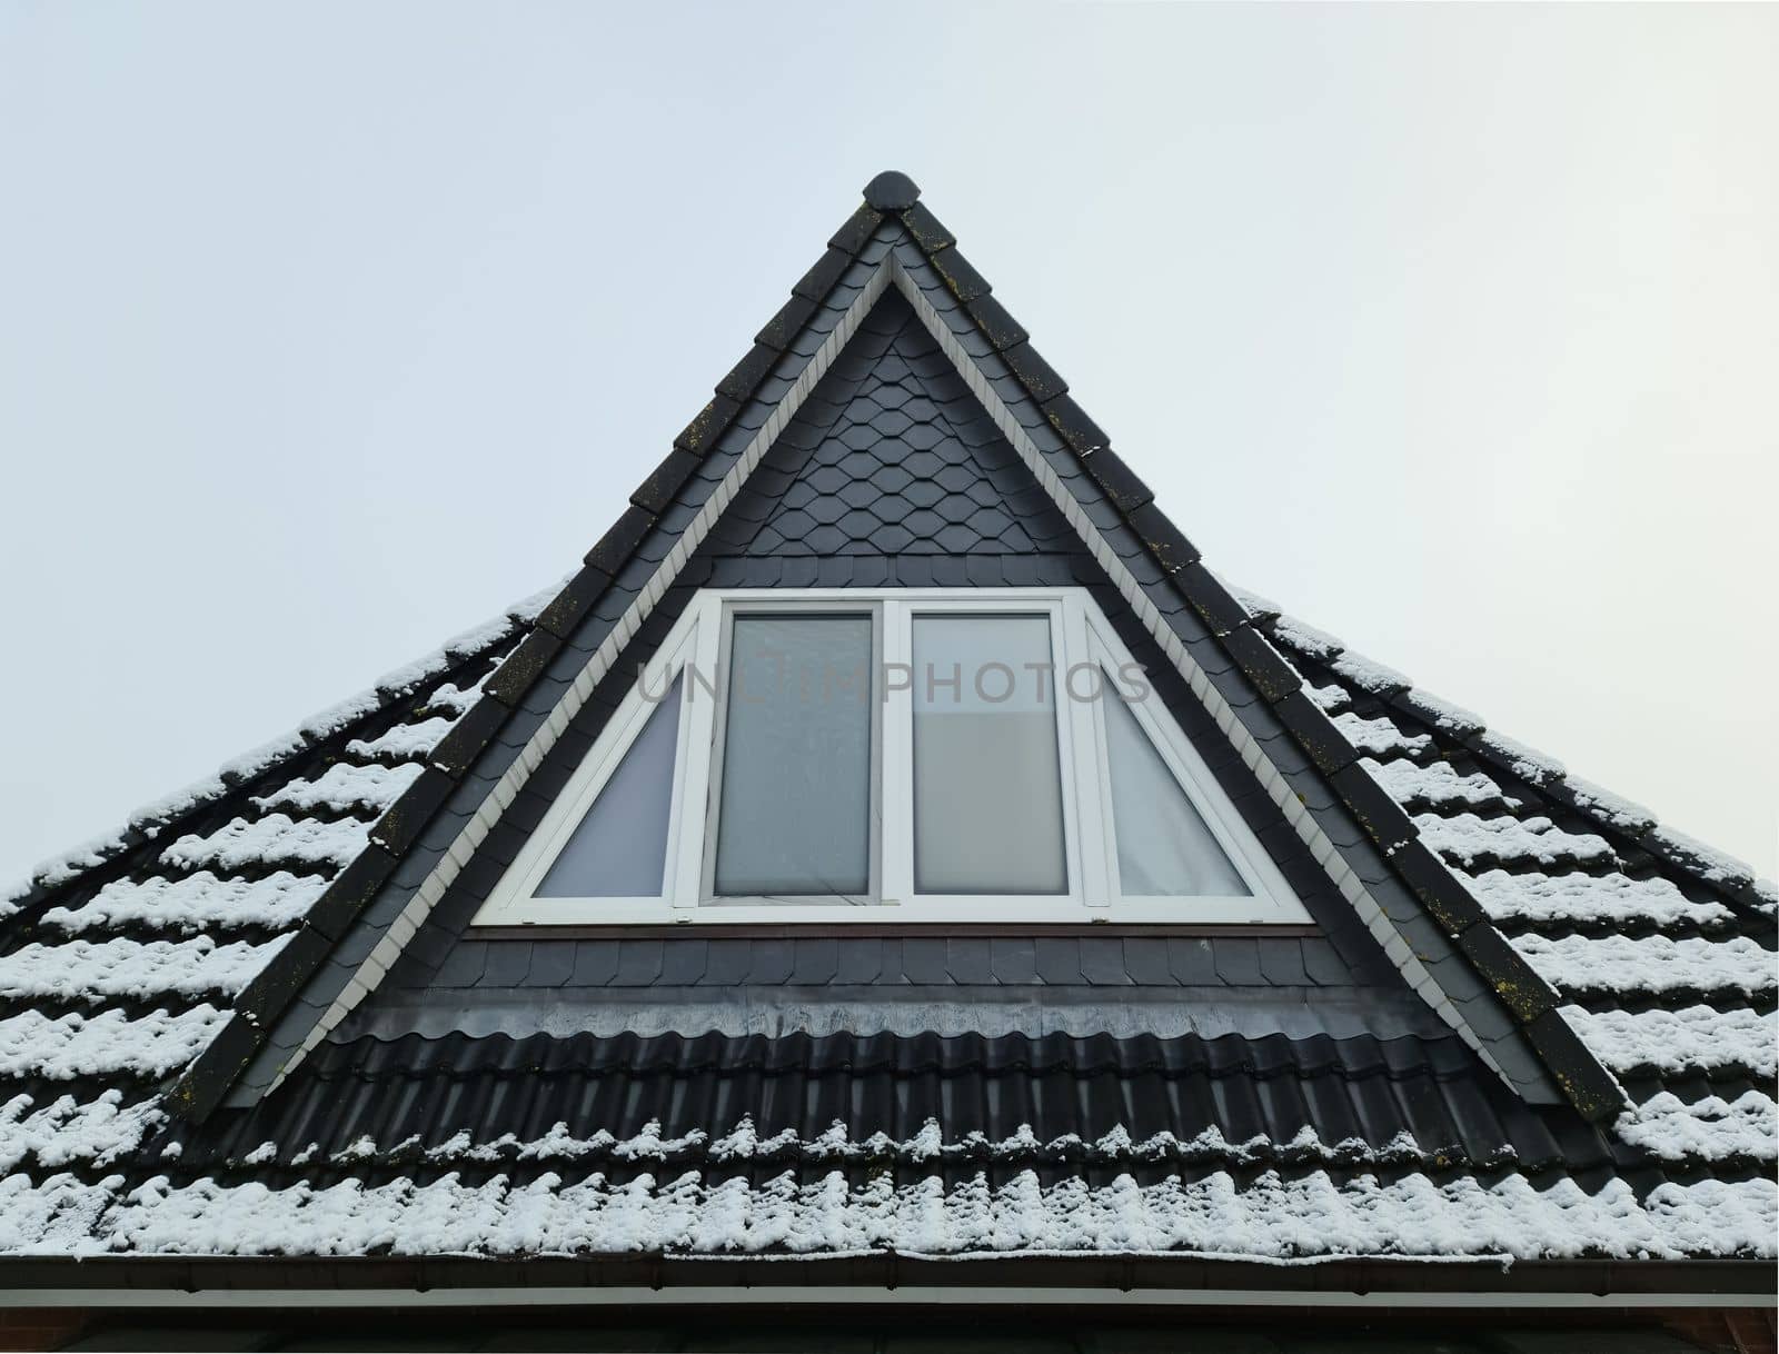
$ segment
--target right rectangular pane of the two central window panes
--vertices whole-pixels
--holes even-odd
[[[914,617],[914,891],[1067,893],[1046,616]]]

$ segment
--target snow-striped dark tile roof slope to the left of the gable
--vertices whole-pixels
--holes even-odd
[[[103,1167],[167,1119],[165,1078],[359,859],[535,610],[509,608],[11,891],[5,915],[32,907],[34,931],[0,954],[0,1164]],[[338,746],[363,738],[377,760]],[[68,1089],[46,1098],[41,1082]]]

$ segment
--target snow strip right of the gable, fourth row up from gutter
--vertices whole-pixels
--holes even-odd
[[[1779,987],[1779,959],[1752,939],[1670,939],[1667,936],[1517,936],[1514,948],[1564,993],[1740,991]]]

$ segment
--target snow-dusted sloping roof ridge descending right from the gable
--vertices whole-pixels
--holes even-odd
[[[1256,625],[1268,626],[1288,648],[1327,662],[1384,705],[1439,728],[1480,762],[1530,781],[1590,824],[1630,838],[1699,883],[1722,890],[1742,907],[1772,916],[1779,906],[1779,884],[1763,879],[1736,856],[1692,838],[1663,824],[1653,810],[1573,774],[1548,753],[1491,728],[1482,715],[1418,687],[1404,673],[1366,658],[1338,635],[1304,625],[1267,598],[1242,589],[1231,591],[1247,605]]]

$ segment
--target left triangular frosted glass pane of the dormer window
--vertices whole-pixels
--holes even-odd
[[[667,870],[680,678],[555,858],[539,899],[658,899]]]

